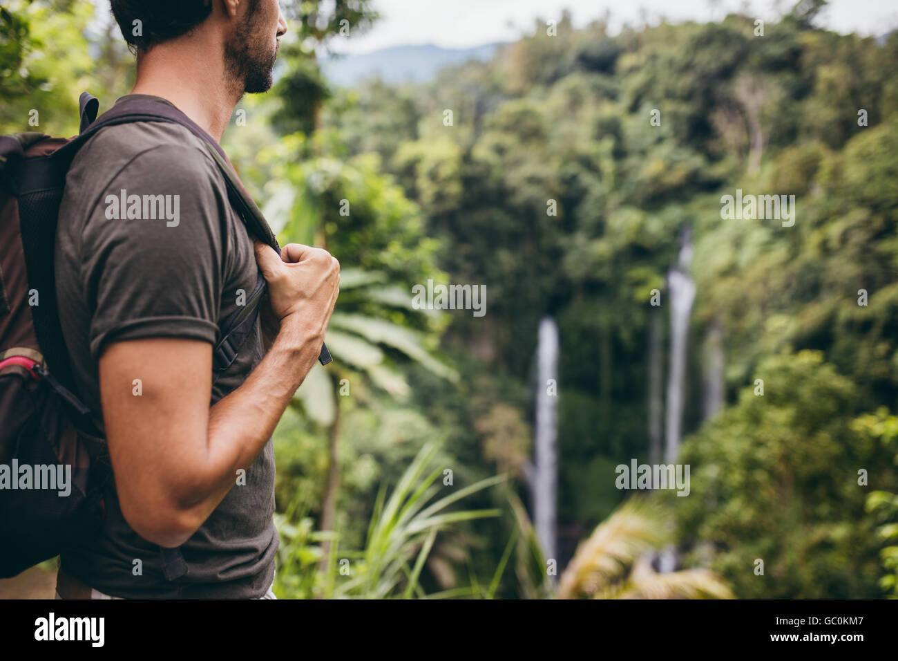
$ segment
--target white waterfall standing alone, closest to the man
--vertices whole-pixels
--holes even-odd
[[[540,322],[536,347],[536,442],[533,466],[533,520],[546,558],[558,559],[555,544],[558,493],[558,395],[549,382],[558,383],[559,329],[551,317]],[[553,389],[552,392],[557,392]],[[554,576],[552,577],[554,578]],[[552,581],[554,583],[554,580]]]

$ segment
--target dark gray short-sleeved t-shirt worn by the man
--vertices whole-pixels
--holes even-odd
[[[116,103],[136,97],[169,103],[141,94]],[[150,195],[147,204],[144,196]],[[242,302],[240,290],[249,295],[258,273],[251,238],[228,202],[215,161],[189,130],[162,122],[107,127],[75,156],[55,256],[59,316],[75,384],[93,411],[101,410],[97,362],[105,346],[146,337],[214,344],[219,323]],[[210,406],[239,387],[262,354],[257,322],[216,380]],[[260,597],[275,569],[274,481],[269,439],[247,468],[246,484],[232,487],[180,547],[189,571],[171,582],[163,576],[159,547],[128,525],[110,482],[102,533],[66,549],[62,567],[112,596]]]

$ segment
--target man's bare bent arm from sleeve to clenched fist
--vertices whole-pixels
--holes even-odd
[[[148,338],[110,344],[100,386],[122,514],[146,540],[179,546],[197,531],[261,449],[318,358],[339,293],[339,264],[291,244],[256,246],[277,336],[242,385],[209,408],[212,346]],[[283,258],[283,262],[281,261]],[[132,394],[142,381],[143,394]]]

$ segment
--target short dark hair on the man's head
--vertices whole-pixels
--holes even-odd
[[[110,4],[132,51],[180,37],[212,13],[211,0],[110,0]],[[137,35],[135,21],[140,21]]]

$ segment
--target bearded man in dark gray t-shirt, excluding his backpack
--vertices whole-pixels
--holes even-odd
[[[117,103],[135,94],[171,103],[217,141],[242,94],[272,85],[286,32],[277,0],[111,6],[137,64],[132,94]],[[162,195],[154,199],[173,213],[116,219],[121,191]],[[259,269],[268,352],[260,323],[213,380],[218,326]],[[75,382],[102,412],[114,473],[103,531],[61,555],[57,596],[274,598],[270,436],[318,357],[337,260],[308,246],[281,255],[254,246],[202,141],[180,125],[139,122],[101,130],[76,156],[56,278]],[[174,548],[176,572],[163,559]]]

